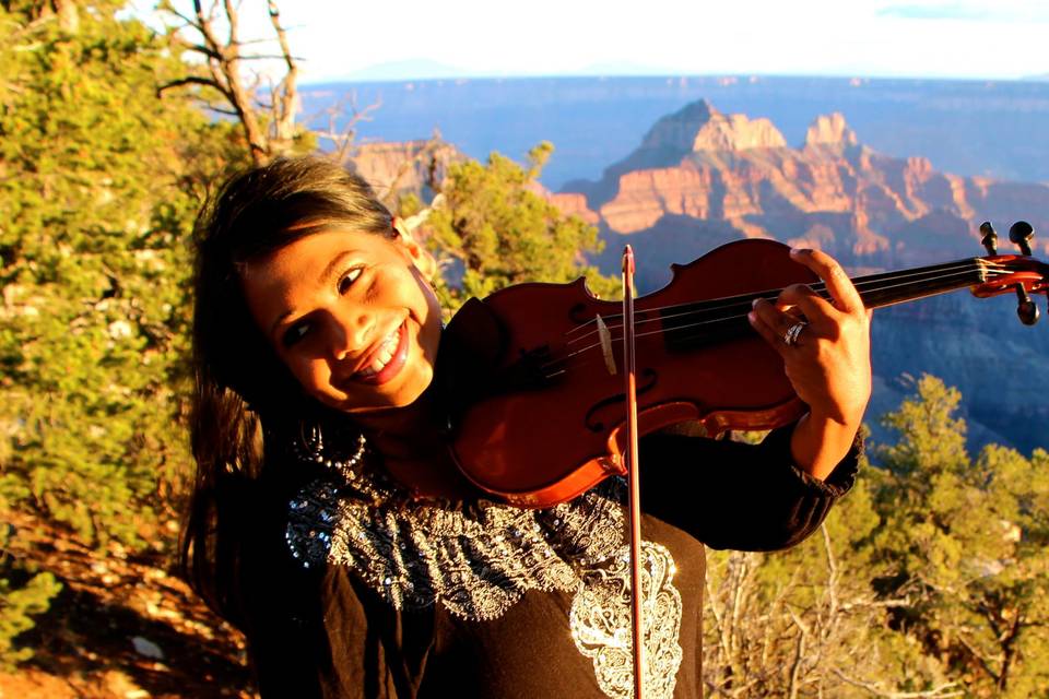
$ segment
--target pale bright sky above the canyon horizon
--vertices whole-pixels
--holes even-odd
[[[302,59],[303,83],[459,75],[1049,74],[1049,0],[279,4]],[[271,35],[262,0],[243,0],[240,15],[244,38]]]

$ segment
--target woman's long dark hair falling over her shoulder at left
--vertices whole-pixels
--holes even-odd
[[[257,503],[264,435],[323,411],[252,322],[240,272],[250,260],[332,225],[394,235],[390,212],[367,182],[319,156],[278,158],[234,176],[198,218],[190,415],[197,474],[179,567],[208,605],[238,626],[239,558]]]

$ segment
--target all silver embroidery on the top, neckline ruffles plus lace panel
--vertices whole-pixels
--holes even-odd
[[[380,470],[337,483],[331,472],[288,505],[285,533],[304,566],[349,566],[398,609],[440,603],[469,620],[498,618],[528,590],[574,591],[569,630],[602,691],[634,691],[625,484],[610,478],[570,502],[523,510],[413,502]],[[646,691],[673,692],[681,595],[670,552],[643,542]]]

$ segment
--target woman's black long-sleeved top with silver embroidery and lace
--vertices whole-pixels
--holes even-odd
[[[852,485],[761,445],[641,440],[646,694],[699,697],[704,547],[771,550],[812,533]],[[281,470],[287,474],[295,469]],[[625,486],[519,510],[416,503],[370,469],[272,478],[244,555],[263,697],[629,697]]]

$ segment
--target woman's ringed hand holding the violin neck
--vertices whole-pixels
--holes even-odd
[[[791,439],[794,461],[823,478],[848,453],[871,396],[870,312],[834,258],[797,249],[790,257],[824,281],[832,301],[794,284],[775,304],[755,301],[749,318],[809,406]]]

